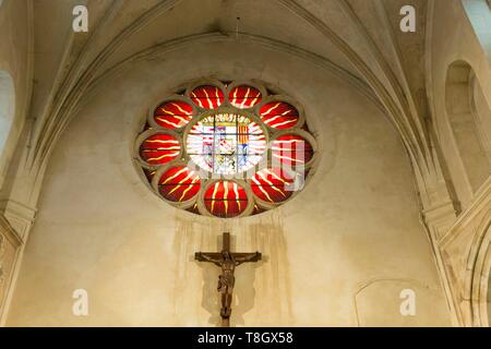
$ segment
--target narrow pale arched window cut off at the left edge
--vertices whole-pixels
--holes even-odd
[[[15,91],[12,76],[5,71],[0,71],[0,155],[3,154],[14,112]]]

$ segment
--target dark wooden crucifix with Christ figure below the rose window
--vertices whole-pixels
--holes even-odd
[[[221,252],[196,252],[194,258],[199,262],[211,262],[221,268],[217,288],[221,294],[221,327],[229,327],[236,267],[242,263],[261,261],[261,253],[230,252],[230,233],[224,232]]]

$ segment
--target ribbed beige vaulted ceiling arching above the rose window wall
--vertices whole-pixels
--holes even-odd
[[[104,74],[155,47],[204,38],[255,40],[323,61],[384,109],[416,171],[431,171],[424,48],[427,0],[88,0],[88,33],[72,31],[80,0],[33,1],[31,164],[44,163],[71,111]],[[416,33],[399,29],[417,10]],[[240,17],[240,21],[237,21]],[[239,36],[237,37],[237,29]]]

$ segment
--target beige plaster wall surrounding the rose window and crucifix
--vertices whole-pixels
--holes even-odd
[[[132,163],[136,129],[147,106],[201,76],[260,79],[304,105],[321,159],[295,200],[223,221],[148,190]],[[192,257],[217,249],[225,229],[235,249],[265,255],[238,269],[232,325],[450,325],[396,131],[319,65],[253,44],[195,44],[131,64],[73,117],[49,164],[7,325],[214,326],[218,269]],[[72,314],[80,288],[88,316]],[[417,294],[414,317],[399,313],[406,288]]]

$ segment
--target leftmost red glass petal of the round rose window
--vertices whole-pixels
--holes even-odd
[[[158,166],[176,159],[181,151],[179,141],[168,134],[154,134],[143,141],[140,156],[148,165]]]

